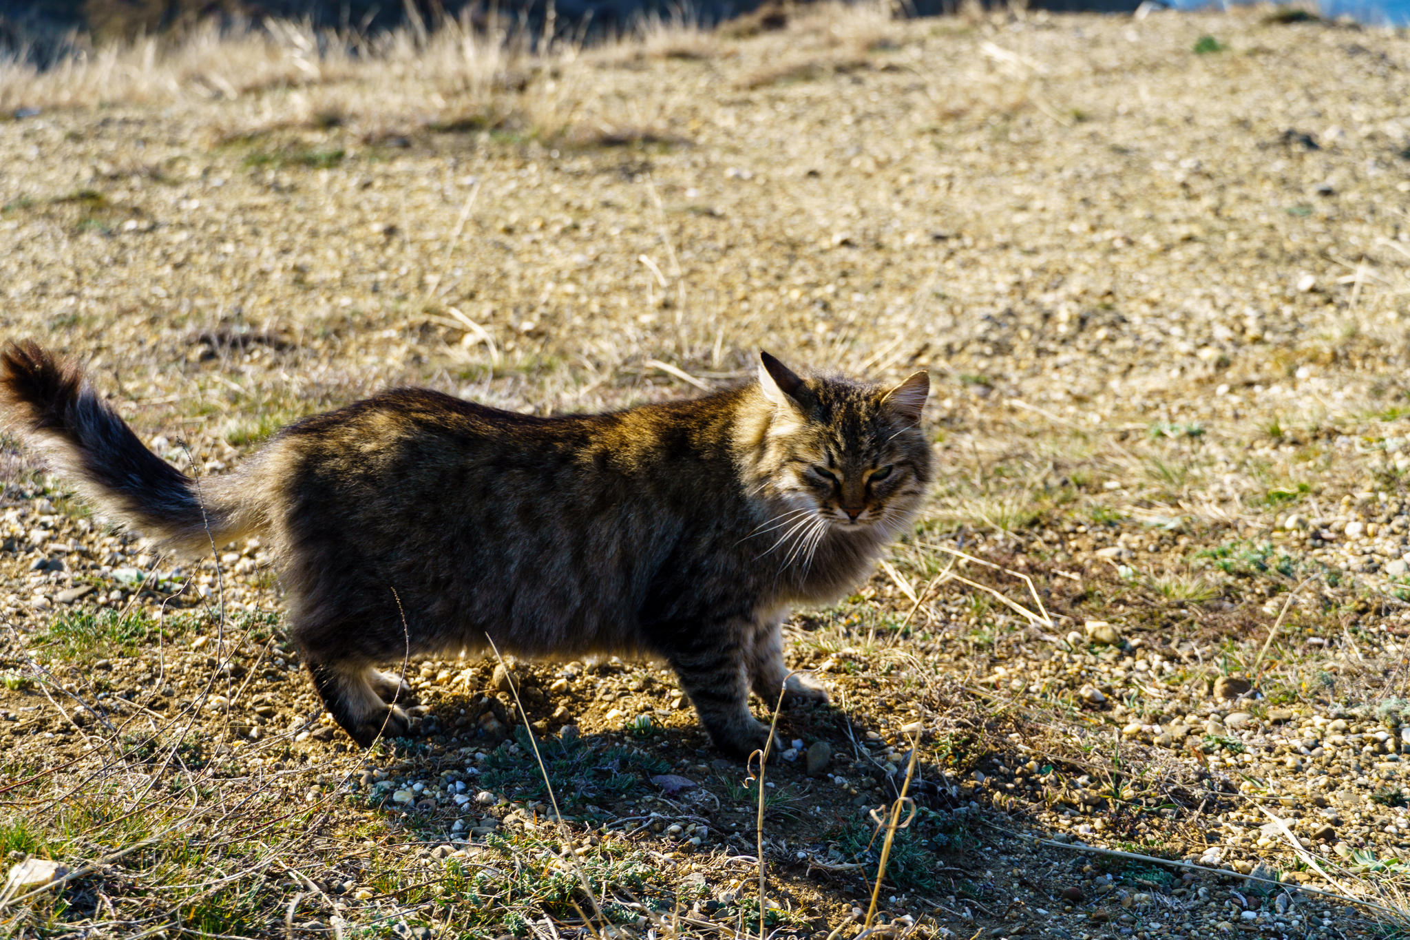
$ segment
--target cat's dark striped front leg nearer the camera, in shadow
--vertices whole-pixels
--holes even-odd
[[[768,743],[768,726],[749,710],[749,630],[688,631],[687,648],[667,658],[715,747],[747,758]]]

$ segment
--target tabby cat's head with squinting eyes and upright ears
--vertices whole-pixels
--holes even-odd
[[[759,469],[773,493],[842,531],[890,536],[914,516],[932,476],[925,372],[894,386],[805,379],[761,352],[759,386],[771,409]]]

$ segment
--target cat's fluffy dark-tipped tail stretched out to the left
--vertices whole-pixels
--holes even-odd
[[[200,486],[152,454],[83,381],[34,341],[0,351],[0,414],[42,451],[79,495],[183,554],[210,551],[248,530],[234,488]]]

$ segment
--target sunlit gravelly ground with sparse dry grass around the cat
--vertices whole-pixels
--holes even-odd
[[[11,76],[7,331],[203,474],[395,382],[546,414],[760,345],[926,368],[924,523],[790,624],[835,705],[780,717],[766,923],[852,936],[905,786],[893,932],[1403,926],[1404,37],[828,7],[489,79],[423,52],[102,107]],[[158,558],[3,461],[0,848],[80,871],[21,936],[757,930],[760,788],[667,672],[509,664],[574,862],[496,664],[409,664],[416,737],[357,751],[257,543]]]

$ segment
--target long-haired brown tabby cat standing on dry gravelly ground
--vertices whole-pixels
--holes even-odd
[[[259,536],[293,643],[362,746],[407,729],[405,657],[658,657],[725,751],[768,730],[780,621],[863,579],[932,476],[925,372],[883,388],[759,378],[694,400],[532,417],[392,389],[278,431],[195,481],[148,451],[79,368],[0,354],[0,409],[110,520],[166,550]],[[826,700],[798,676],[791,698]]]

